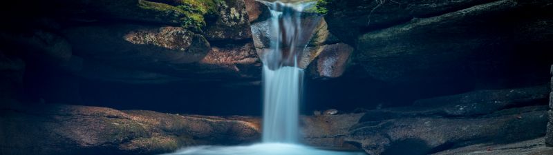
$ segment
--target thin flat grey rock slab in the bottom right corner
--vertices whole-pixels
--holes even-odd
[[[448,149],[432,155],[547,155],[553,154],[553,148],[545,147],[543,137],[509,144],[477,144],[456,149]]]

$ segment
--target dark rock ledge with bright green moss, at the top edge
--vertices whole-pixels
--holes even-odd
[[[100,19],[125,19],[148,23],[179,25],[200,32],[205,17],[217,12],[219,0],[62,0],[77,16]]]

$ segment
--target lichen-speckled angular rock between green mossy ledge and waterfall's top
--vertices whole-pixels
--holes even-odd
[[[203,34],[209,41],[252,38],[247,9],[243,0],[219,1],[217,19],[207,25]]]

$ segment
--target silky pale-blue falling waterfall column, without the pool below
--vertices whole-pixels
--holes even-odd
[[[298,55],[313,24],[302,24],[301,12],[311,3],[263,2],[270,7],[270,50],[263,61],[263,142],[297,143],[303,70]],[[308,31],[302,32],[302,30]],[[307,34],[307,35],[306,35]]]

